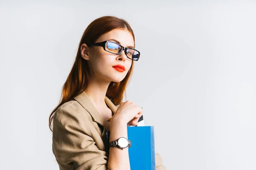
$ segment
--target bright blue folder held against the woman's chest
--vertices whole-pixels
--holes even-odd
[[[127,127],[131,170],[155,170],[154,126]]]

